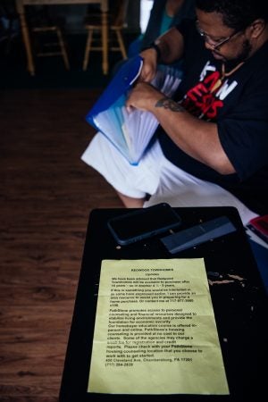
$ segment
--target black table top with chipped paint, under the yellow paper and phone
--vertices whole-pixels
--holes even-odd
[[[126,214],[125,209],[95,209],[88,220],[80,281],[63,369],[60,402],[84,402],[148,398],[180,401],[266,400],[268,356],[267,296],[255,264],[247,235],[233,207],[174,208],[180,214],[180,230],[225,215],[236,231],[219,239],[171,255],[160,238],[118,247],[107,220]],[[168,233],[167,233],[168,234]],[[205,259],[214,316],[222,348],[230,395],[110,395],[88,393],[88,373],[96,316],[100,267],[105,259]],[[234,281],[225,281],[230,279]],[[238,278],[238,279],[236,279]],[[242,280],[241,280],[242,278]]]

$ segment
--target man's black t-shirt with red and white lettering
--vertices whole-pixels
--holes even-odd
[[[217,123],[222,147],[236,173],[222,175],[198,162],[159,127],[163,154],[180,169],[228,189],[256,213],[267,214],[268,42],[214,90],[222,62],[205,49],[194,21],[184,21],[178,29],[184,37],[185,73],[174,99],[199,119]]]

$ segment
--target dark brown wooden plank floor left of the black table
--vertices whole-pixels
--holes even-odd
[[[57,401],[88,214],[121,207],[80,161],[98,93],[0,92],[1,402]]]

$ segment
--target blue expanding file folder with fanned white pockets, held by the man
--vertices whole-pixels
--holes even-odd
[[[125,106],[129,91],[138,79],[142,63],[140,56],[124,63],[86,116],[86,120],[102,132],[130,164],[138,164],[158,125],[153,113],[135,108],[128,111]],[[172,96],[180,84],[180,72],[161,65],[151,84],[165,96]]]

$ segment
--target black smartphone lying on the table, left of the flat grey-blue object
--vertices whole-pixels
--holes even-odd
[[[180,226],[180,215],[166,203],[148,206],[111,218],[107,224],[121,246],[147,239]]]

